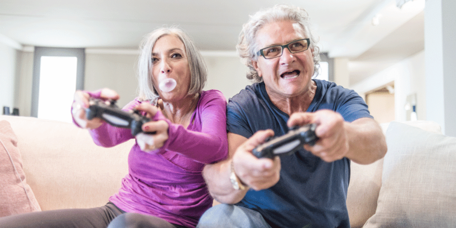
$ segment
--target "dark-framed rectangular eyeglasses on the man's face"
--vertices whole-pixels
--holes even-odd
[[[280,57],[285,47],[288,48],[288,50],[290,50],[291,53],[304,52],[309,48],[310,42],[311,39],[306,38],[297,41],[292,41],[285,45],[265,47],[259,50],[259,52],[257,52],[257,55],[262,55],[266,59]]]

